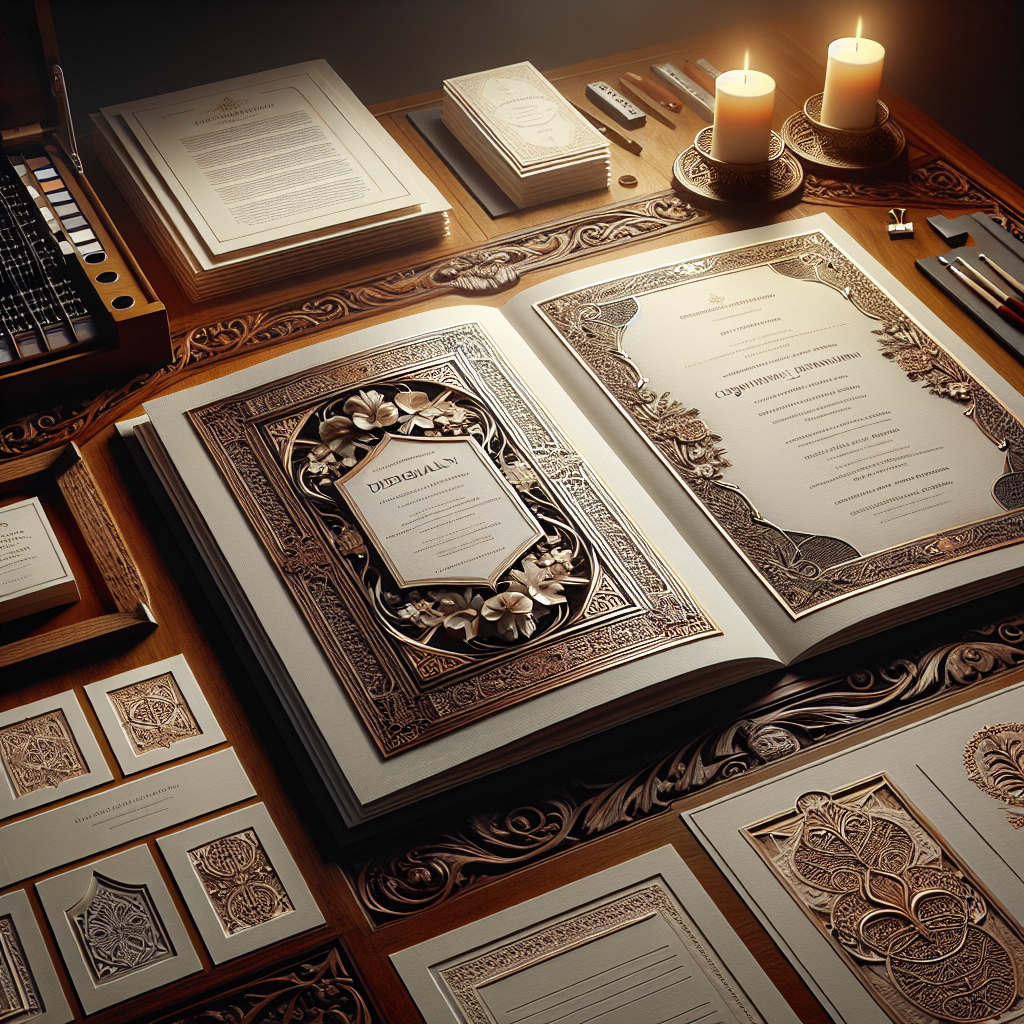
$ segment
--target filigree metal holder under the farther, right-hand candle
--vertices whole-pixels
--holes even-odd
[[[782,125],[785,144],[806,163],[836,171],[867,171],[893,163],[906,147],[906,136],[878,100],[874,124],[867,128],[833,128],[821,122],[821,97],[809,96],[799,114]]]

